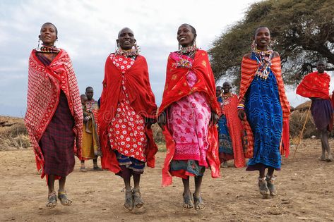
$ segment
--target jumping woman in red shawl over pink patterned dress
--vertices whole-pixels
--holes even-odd
[[[196,48],[195,28],[181,25],[177,40],[179,51],[169,54],[165,91],[158,113],[167,146],[162,186],[172,183],[172,175],[182,178],[183,207],[203,210],[201,183],[205,168],[211,168],[213,178],[220,176],[215,127],[220,106],[215,97],[208,54]],[[195,178],[193,198],[189,176]]]

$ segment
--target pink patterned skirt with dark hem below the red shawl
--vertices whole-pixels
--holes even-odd
[[[203,175],[203,170],[208,167],[206,152],[210,116],[210,106],[201,92],[190,94],[170,106],[168,128],[175,142],[172,175],[181,178]]]

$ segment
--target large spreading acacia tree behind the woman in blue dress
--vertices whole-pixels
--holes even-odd
[[[258,26],[270,29],[287,84],[297,84],[319,59],[334,70],[334,0],[267,0],[252,4],[243,20],[213,42],[209,54],[216,80],[232,78],[239,85],[241,59]]]

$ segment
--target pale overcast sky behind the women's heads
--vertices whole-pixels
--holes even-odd
[[[24,116],[28,57],[37,47],[40,27],[51,22],[58,29],[56,47],[73,61],[80,92],[92,86],[95,99],[102,92],[105,60],[115,50],[117,34],[130,27],[148,61],[157,105],[162,100],[170,51],[177,50],[177,28],[189,23],[197,30],[197,45],[208,50],[227,27],[241,20],[254,0],[234,1],[0,1],[0,115]],[[222,82],[222,80],[220,80]],[[301,97],[288,90],[292,106]]]

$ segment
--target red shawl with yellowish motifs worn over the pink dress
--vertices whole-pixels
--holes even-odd
[[[220,105],[217,102],[215,95],[215,80],[213,78],[213,71],[211,70],[208,54],[206,51],[198,49],[193,59],[193,65],[189,68],[176,68],[174,67],[175,61],[169,56],[167,61],[167,73],[165,82],[165,91],[162,96],[162,104],[159,108],[158,115],[160,115],[165,109],[168,108],[175,101],[179,101],[182,97],[193,92],[203,92],[211,107],[211,110],[215,113],[220,113]],[[186,74],[191,70],[197,77],[197,82],[193,87],[189,87],[186,82]],[[167,125],[163,129],[163,134],[166,140],[166,158],[162,168],[162,186],[172,184],[172,175],[169,173],[169,164],[172,161],[175,151],[175,142]],[[211,168],[211,175],[213,178],[220,177],[220,160],[218,154],[218,142],[217,142],[217,128],[210,123],[208,129],[208,142],[209,148],[207,152],[208,164]]]

